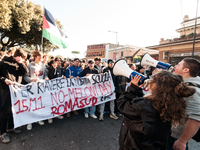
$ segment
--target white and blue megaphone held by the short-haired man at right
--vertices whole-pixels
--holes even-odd
[[[171,66],[170,64],[166,64],[160,61],[157,61],[155,59],[153,59],[148,53],[145,53],[141,59],[140,62],[141,66],[153,66],[155,68],[159,68],[159,69],[164,69],[164,70],[169,70],[169,71],[173,71],[174,67]]]

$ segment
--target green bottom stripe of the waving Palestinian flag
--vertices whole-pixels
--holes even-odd
[[[68,43],[62,39],[50,34],[47,29],[43,29],[42,36],[48,39],[52,44],[57,45],[60,48],[67,48]]]

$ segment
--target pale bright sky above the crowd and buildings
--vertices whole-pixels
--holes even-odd
[[[67,49],[55,51],[73,57],[71,51],[87,50],[87,45],[158,45],[160,38],[179,34],[183,17],[196,17],[197,0],[31,0],[51,12],[68,35]],[[181,6],[182,5],[182,6]],[[199,10],[200,12],[200,10]],[[199,13],[198,13],[199,16]]]

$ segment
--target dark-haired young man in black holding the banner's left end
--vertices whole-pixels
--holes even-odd
[[[10,138],[7,132],[20,133],[20,130],[13,129],[13,115],[11,110],[11,97],[9,85],[13,82],[21,83],[22,77],[28,72],[27,67],[23,63],[26,54],[23,50],[17,49],[14,56],[5,58],[0,62],[0,92],[2,98],[2,109],[0,112],[0,131],[2,143],[9,143]],[[8,130],[7,128],[8,122]]]

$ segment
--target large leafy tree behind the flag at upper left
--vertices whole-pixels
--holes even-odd
[[[0,1],[0,43],[6,47],[21,46],[39,49],[42,38],[43,11],[40,5],[25,0]],[[62,28],[56,20],[58,27]],[[44,38],[45,51],[58,48]]]

